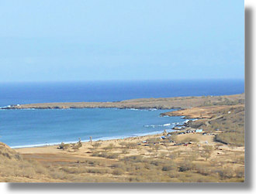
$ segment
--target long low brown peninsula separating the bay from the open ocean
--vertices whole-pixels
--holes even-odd
[[[1,109],[66,109],[66,108],[157,108],[157,109],[185,109],[191,107],[202,107],[209,105],[234,105],[244,102],[244,94],[227,96],[202,96],[202,97],[161,97],[140,98],[133,100],[122,100],[116,102],[56,102],[39,104],[17,104],[1,107]]]

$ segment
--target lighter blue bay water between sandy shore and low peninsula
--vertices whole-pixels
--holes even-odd
[[[170,110],[85,108],[1,110],[0,141],[11,147],[125,138],[171,131],[182,117],[160,117]]]

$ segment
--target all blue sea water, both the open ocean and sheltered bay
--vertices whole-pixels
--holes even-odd
[[[244,80],[108,81],[0,83],[0,107],[10,104],[119,101],[244,93]],[[61,141],[123,138],[170,130],[182,117],[159,117],[169,110],[115,108],[0,110],[0,141],[12,147]]]

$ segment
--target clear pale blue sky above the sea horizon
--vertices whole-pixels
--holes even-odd
[[[0,82],[244,79],[242,0],[0,1]]]

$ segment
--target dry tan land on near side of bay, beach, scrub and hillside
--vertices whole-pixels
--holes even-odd
[[[194,98],[185,97],[183,103],[189,108],[164,115],[195,119],[170,134],[163,131],[140,137],[33,148],[11,149],[2,144],[0,180],[244,182],[244,94],[231,98],[216,97],[214,101],[206,97],[207,106],[198,107],[191,101]],[[196,132],[199,128],[202,131]],[[230,132],[232,129],[238,133]]]

